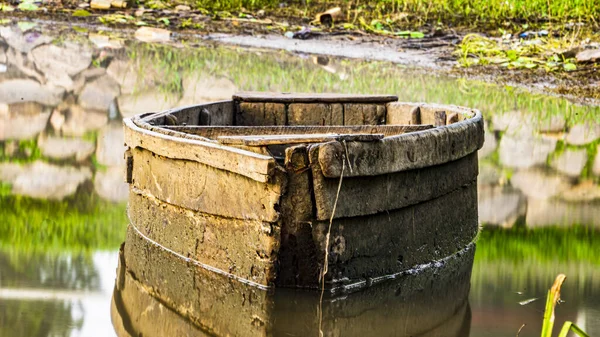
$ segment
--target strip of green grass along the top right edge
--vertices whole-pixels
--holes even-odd
[[[207,10],[278,10],[280,0],[196,0],[192,2]],[[599,0],[295,0],[286,2],[308,16],[329,7],[340,6],[347,20],[356,17],[385,18],[388,24],[444,22],[466,25],[502,24],[513,22],[596,23],[600,16]]]

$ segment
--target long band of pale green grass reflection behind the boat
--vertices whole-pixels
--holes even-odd
[[[600,109],[581,107],[564,99],[531,94],[511,87],[477,81],[432,76],[386,62],[337,61],[323,57],[336,69],[330,73],[312,59],[290,57],[285,52],[247,52],[239,48],[181,48],[132,44],[128,56],[136,71],[152,69],[161,88],[180,92],[182,78],[228,78],[238,90],[394,93],[400,100],[470,106],[486,117],[512,110],[531,112],[544,121],[561,116],[572,125],[596,120]],[[344,74],[342,79],[340,74]],[[166,81],[166,82],[165,82]]]

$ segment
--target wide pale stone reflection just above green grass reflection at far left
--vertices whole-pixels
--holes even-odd
[[[4,170],[0,171],[4,173]],[[36,161],[20,168],[6,179],[0,179],[12,184],[12,193],[40,199],[61,200],[75,194],[77,187],[92,177],[87,167],[63,167]]]

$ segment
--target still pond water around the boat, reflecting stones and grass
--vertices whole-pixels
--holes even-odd
[[[482,110],[484,229],[461,333],[513,336],[526,324],[521,336],[537,336],[563,272],[557,321],[600,334],[598,108],[390,64],[118,39],[109,48],[107,34],[41,30],[0,26],[1,336],[115,334],[127,224],[120,120],[237,90],[394,93]],[[530,298],[540,300],[519,304]]]

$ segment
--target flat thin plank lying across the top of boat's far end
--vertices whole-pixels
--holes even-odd
[[[268,93],[238,92],[234,100],[243,102],[277,103],[388,103],[398,100],[395,95],[350,95],[350,94],[311,94],[311,93]]]

